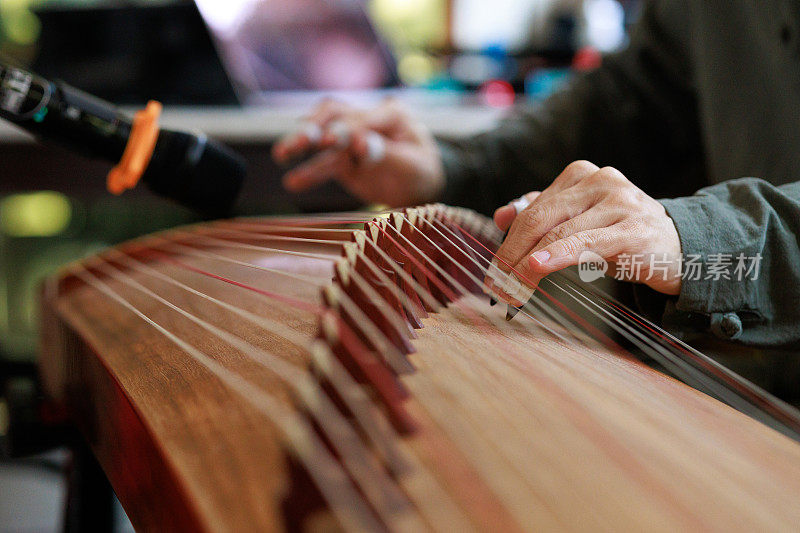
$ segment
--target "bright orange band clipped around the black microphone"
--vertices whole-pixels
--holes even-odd
[[[150,100],[147,107],[133,116],[133,126],[122,159],[111,169],[106,180],[106,187],[111,194],[122,194],[139,183],[153,157],[161,108],[161,103]]]

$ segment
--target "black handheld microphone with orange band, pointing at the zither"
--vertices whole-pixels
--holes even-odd
[[[157,194],[208,216],[227,214],[246,172],[243,158],[208,139],[158,127],[161,104],[133,119],[62,81],[0,63],[0,118],[83,155],[119,162],[108,175],[114,194],[145,182]]]

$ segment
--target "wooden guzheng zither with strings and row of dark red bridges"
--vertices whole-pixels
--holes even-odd
[[[796,411],[568,275],[506,322],[500,238],[431,205],[135,240],[45,285],[42,379],[141,530],[797,530]]]

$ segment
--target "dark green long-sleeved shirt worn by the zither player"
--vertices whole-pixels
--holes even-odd
[[[797,0],[648,1],[602,67],[442,150],[442,200],[482,212],[577,159],[618,168],[668,198],[684,257],[761,256],[755,280],[685,279],[679,297],[658,300],[664,325],[800,346]]]

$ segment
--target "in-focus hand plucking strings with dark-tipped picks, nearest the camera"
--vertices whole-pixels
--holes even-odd
[[[625,257],[629,268],[638,265],[626,269],[626,279],[665,294],[680,292],[681,245],[675,224],[659,202],[618,170],[576,161],[541,194],[526,198],[530,205],[519,213],[512,204],[495,212],[497,226],[510,228],[496,266],[508,273],[506,263],[512,265],[523,285],[535,288],[546,275],[578,264],[588,250],[608,261],[612,274]],[[638,262],[630,262],[632,257]],[[502,290],[501,278],[487,276],[489,290],[512,305],[525,303],[525,287],[509,294]]]

